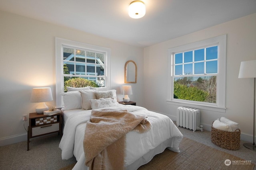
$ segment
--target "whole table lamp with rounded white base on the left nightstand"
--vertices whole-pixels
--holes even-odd
[[[36,113],[42,114],[48,110],[48,106],[44,102],[52,101],[52,90],[51,88],[32,88],[30,102],[40,103],[36,107]]]

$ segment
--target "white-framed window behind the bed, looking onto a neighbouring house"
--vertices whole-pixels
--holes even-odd
[[[70,78],[85,78],[110,88],[110,49],[60,38],[55,43],[56,106],[62,106],[60,93]]]

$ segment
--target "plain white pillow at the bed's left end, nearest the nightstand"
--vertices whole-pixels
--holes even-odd
[[[81,109],[82,98],[80,92],[66,92],[61,93],[63,96],[64,107],[62,110],[72,110],[72,109]]]

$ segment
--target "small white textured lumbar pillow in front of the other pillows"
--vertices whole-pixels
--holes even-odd
[[[104,107],[116,106],[116,100],[114,98],[100,98],[100,99],[90,99],[92,104],[92,109],[100,109]]]

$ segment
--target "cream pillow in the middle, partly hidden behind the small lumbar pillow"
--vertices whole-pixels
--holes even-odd
[[[92,109],[90,99],[96,99],[94,92],[97,90],[80,90],[82,97],[82,109],[89,110]]]

